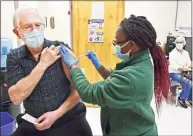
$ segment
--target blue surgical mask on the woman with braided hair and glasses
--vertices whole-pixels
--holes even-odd
[[[129,41],[128,41],[128,42],[129,42]],[[125,53],[125,54],[122,54],[122,53],[121,53],[121,48],[125,47],[125,46],[128,44],[128,42],[125,43],[123,46],[120,46],[120,45],[115,45],[115,46],[113,46],[113,48],[114,48],[114,54],[115,54],[118,58],[120,58],[121,60],[123,60],[123,61],[127,61],[128,58],[129,58],[129,56],[130,56],[130,51],[128,51],[128,53]]]

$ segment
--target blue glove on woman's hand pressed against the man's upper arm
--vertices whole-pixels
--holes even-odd
[[[78,63],[78,60],[73,56],[72,51],[66,46],[60,46],[60,54],[68,67]]]

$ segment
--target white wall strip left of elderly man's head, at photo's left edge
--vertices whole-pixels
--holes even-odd
[[[1,37],[10,37],[14,48],[17,47],[17,37],[13,33],[13,14],[14,14],[13,1],[1,1]]]

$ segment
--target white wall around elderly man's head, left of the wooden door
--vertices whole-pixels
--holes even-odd
[[[48,27],[45,29],[45,37],[47,39],[63,41],[71,46],[69,4],[69,1],[19,1],[19,7],[37,8],[42,17],[47,17]],[[13,1],[1,2],[1,37],[12,37],[14,47],[18,47],[17,37],[12,31],[14,12]],[[50,28],[51,16],[55,18],[54,29]]]

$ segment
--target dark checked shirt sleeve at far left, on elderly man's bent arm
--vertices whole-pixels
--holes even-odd
[[[25,72],[17,61],[14,60],[11,54],[7,56],[7,84],[10,88],[19,80],[25,77]]]

